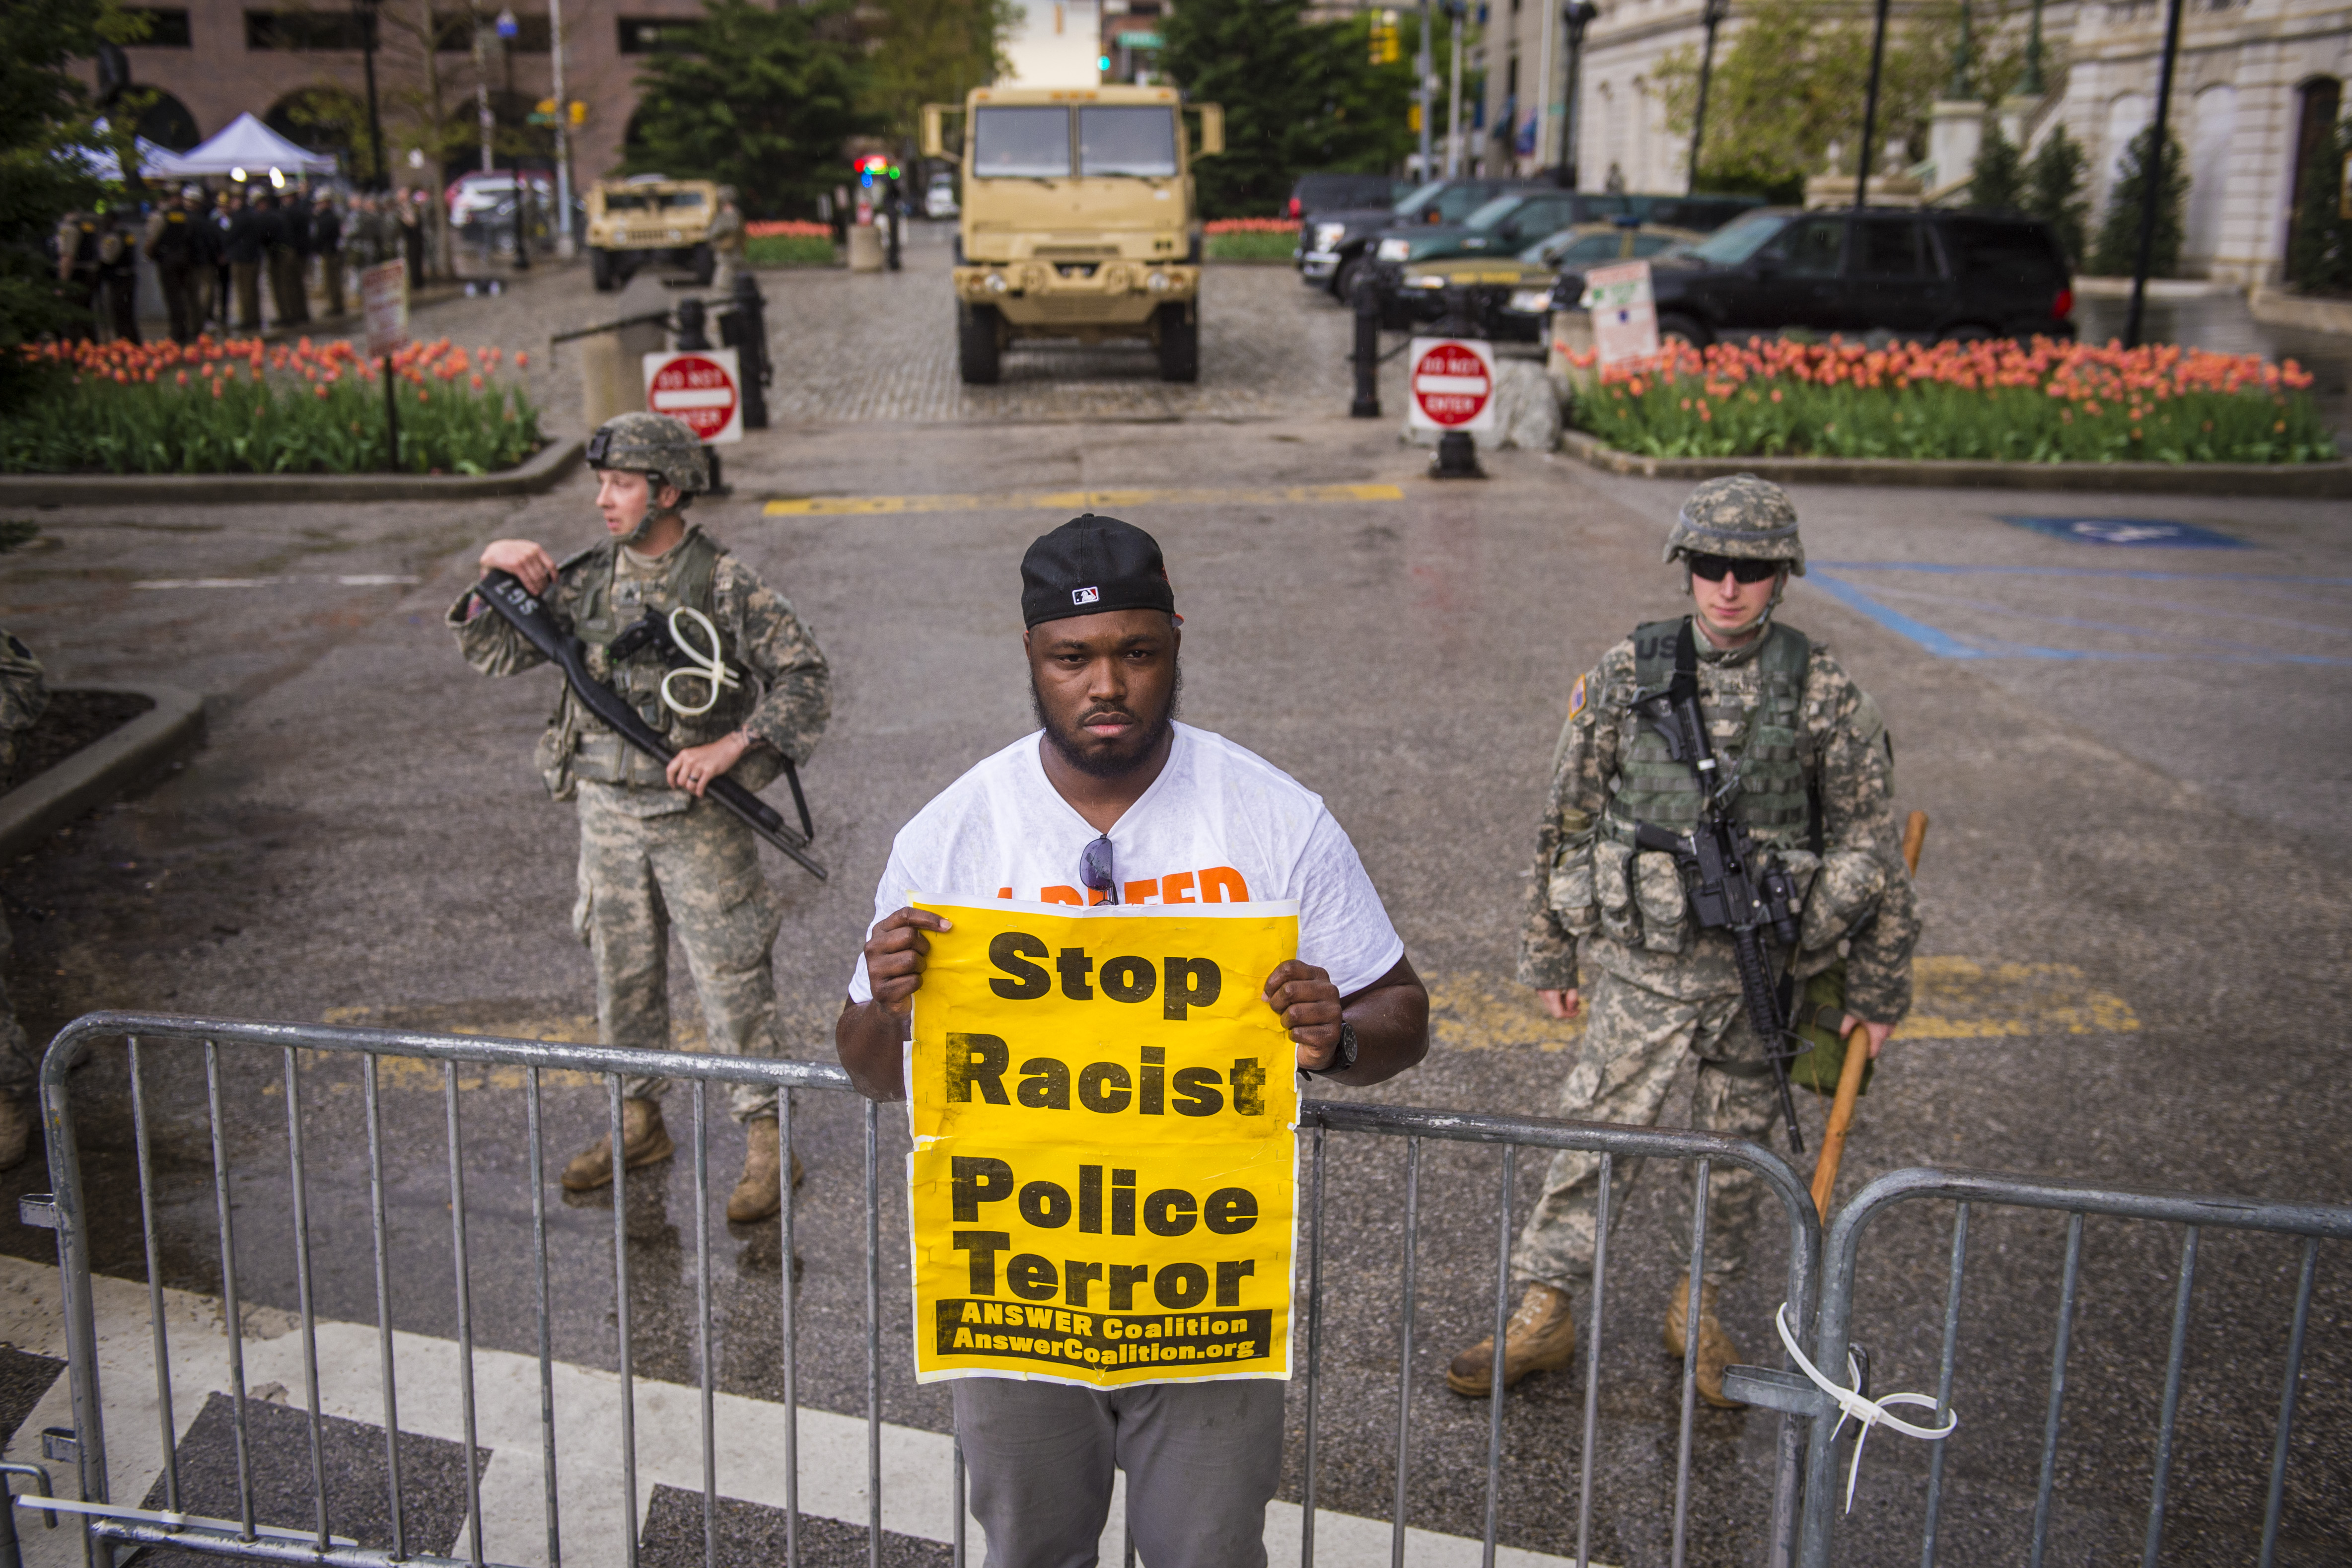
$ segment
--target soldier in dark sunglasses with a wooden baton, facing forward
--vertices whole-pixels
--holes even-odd
[[[1919,936],[1896,832],[1893,748],[1877,703],[1837,658],[1773,609],[1788,576],[1804,574],[1797,508],[1778,484],[1708,480],[1682,505],[1665,559],[1684,562],[1691,616],[1639,628],[1569,691],[1552,755],[1552,792],[1536,835],[1536,884],[1519,938],[1519,983],[1545,1011],[1573,1018],[1590,1004],[1583,1046],[1559,1093],[1571,1121],[1653,1126],[1668,1091],[1696,1058],[1693,1124],[1762,1143],[1778,1114],[1766,1041],[1740,1006],[1726,931],[1700,931],[1672,856],[1635,849],[1635,823],[1689,832],[1700,783],[1635,715],[1635,696],[1663,689],[1682,637],[1691,637],[1698,698],[1715,755],[1738,766],[1738,816],[1788,865],[1804,893],[1795,971],[1844,964],[1839,1034],[1870,1027],[1870,1056],[1910,1011],[1910,952]],[[1611,1211],[1632,1187],[1618,1161]],[[1569,1288],[1592,1276],[1599,1157],[1562,1150],[1519,1232],[1512,1272],[1529,1281],[1503,1340],[1505,1387],[1569,1363],[1576,1324]],[[1689,1194],[1675,1246],[1689,1246]],[[1715,1293],[1738,1274],[1755,1232],[1759,1180],[1717,1166],[1708,1185],[1708,1262],[1700,1291],[1698,1392],[1724,1399],[1738,1359],[1715,1316]],[[1684,1354],[1689,1279],[1665,1316],[1665,1342]],[[1446,1368],[1458,1394],[1484,1396],[1494,1340]]]

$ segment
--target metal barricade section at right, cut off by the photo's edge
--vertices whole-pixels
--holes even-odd
[[[2065,1260],[2063,1279],[2058,1291],[2058,1324],[2051,1335],[2051,1373],[2049,1373],[2049,1406],[2042,1422],[2042,1462],[2039,1481],[2034,1488],[2034,1512],[2032,1512],[2032,1537],[2030,1556],[2032,1568],[2042,1568],[2042,1561],[2051,1544],[2051,1497],[2058,1474],[2058,1436],[2063,1429],[2065,1392],[2067,1392],[2067,1356],[2074,1338],[2077,1302],[2082,1295],[2082,1255],[2084,1255],[2084,1220],[2089,1215],[2105,1215],[2119,1220],[2152,1220],[2164,1225],[2180,1225],[2180,1267],[2173,1274],[2173,1316],[2171,1316],[2171,1342],[2164,1366],[2164,1394],[2157,1410],[2157,1432],[2152,1436],[2152,1462],[2150,1462],[2150,1497],[2147,1497],[2147,1530],[2143,1537],[2143,1563],[2154,1568],[2164,1549],[2164,1512],[2166,1493],[2171,1486],[2173,1467],[2173,1443],[2180,1422],[2180,1385],[2183,1366],[2187,1359],[2187,1333],[2190,1333],[2190,1307],[2197,1284],[2197,1244],[2199,1234],[2206,1229],[2237,1229],[2237,1232],[2270,1232],[2281,1237],[2303,1237],[2303,1260],[2296,1284],[2296,1307],[2286,1324],[2286,1373],[2284,1392],[2279,1394],[2279,1418],[2272,1427],[2272,1455],[2270,1455],[2270,1486],[2263,1505],[2263,1544],[2260,1563],[2270,1568],[2279,1547],[2279,1516],[2286,1497],[2286,1460],[2288,1460],[2288,1436],[2296,1425],[2296,1394],[2303,1382],[2303,1345],[2305,1328],[2310,1326],[2312,1312],[2312,1279],[2319,1265],[2321,1241],[2347,1241],[2352,1239],[2352,1208],[2336,1204],[2281,1204],[2260,1199],[2230,1199],[2230,1197],[2192,1197],[2192,1194],[2164,1194],[2164,1192],[2124,1192],[2112,1187],[2096,1187],[2089,1182],[2063,1182],[2063,1180],[2030,1180],[2016,1175],[1994,1175],[1983,1171],[1938,1171],[1938,1168],[1912,1168],[1912,1171],[1889,1171],[1886,1175],[1872,1180],[1853,1201],[1849,1201],[1823,1239],[1823,1293],[1820,1293],[1820,1316],[1813,1328],[1813,1366],[1823,1368],[1828,1375],[1837,1375],[1835,1368],[1846,1368],[1846,1352],[1853,1342],[1853,1288],[1860,1272],[1860,1241],[1870,1222],[1898,1204],[1917,1199],[1947,1199],[1955,1204],[1952,1211],[1952,1253],[1950,1253],[1950,1284],[1945,1291],[1943,1309],[1943,1356],[1936,1382],[1936,1420],[1955,1410],[1952,1385],[1955,1363],[1959,1345],[1959,1321],[1962,1321],[1962,1286],[1969,1262],[1969,1215],[1973,1208],[2042,1208],[2058,1211],[2067,1215],[2065,1227]],[[2016,1279],[2016,1260],[2004,1262],[2006,1276]],[[1797,1333],[1802,1335],[1802,1319]],[[1867,1389],[1865,1389],[1867,1392]],[[1816,1394],[1811,1387],[1790,1396],[1785,1408],[1806,1408],[1813,1413],[1811,1446],[1806,1453],[1806,1483],[1804,1483],[1804,1540],[1802,1561],[1804,1568],[1828,1568],[1832,1537],[1837,1533],[1839,1509],[1844,1507],[1846,1488],[1839,1476],[1839,1453],[1835,1432],[1839,1427],[1837,1406],[1825,1396]],[[1959,1429],[1955,1429],[1957,1436]],[[1896,1439],[1886,1439],[1889,1443]],[[1924,1497],[1924,1521],[1922,1521],[1922,1554],[1924,1568],[1936,1568],[1938,1526],[1943,1516],[1943,1490],[1945,1490],[1945,1443],[1933,1443],[1929,1453],[1926,1474],[1926,1497]],[[2333,1528],[2343,1526],[2343,1516],[2333,1521]],[[2251,1542],[2249,1542],[2251,1544]],[[2244,1561],[2244,1552],[2232,1552],[2232,1561]]]

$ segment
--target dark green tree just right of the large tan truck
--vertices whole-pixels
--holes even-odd
[[[1176,7],[1160,63],[1188,99],[1225,110],[1225,153],[1192,169],[1204,216],[1277,214],[1310,169],[1376,174],[1402,165],[1418,146],[1406,129],[1418,28],[1414,12],[1399,16],[1402,59],[1374,66],[1369,14],[1310,24],[1305,0]],[[1444,78],[1446,31],[1430,42]]]

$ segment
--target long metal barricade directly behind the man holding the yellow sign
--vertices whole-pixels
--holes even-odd
[[[153,1363],[155,1363],[155,1420],[158,1439],[162,1453],[162,1509],[141,1509],[118,1505],[111,1497],[108,1460],[106,1460],[106,1420],[99,1389],[99,1326],[94,1312],[94,1241],[92,1234],[92,1192],[82,1173],[82,1157],[75,1133],[75,1105],[71,1074],[89,1056],[89,1051],[103,1041],[120,1039],[127,1048],[127,1084],[129,1084],[129,1112],[132,1112],[132,1143],[136,1154],[136,1178],[139,1178],[139,1227],[146,1262],[146,1298],[153,1321]],[[292,1192],[292,1237],[294,1237],[294,1293],[296,1293],[296,1328],[301,1333],[301,1413],[308,1422],[308,1458],[310,1458],[310,1505],[308,1523],[303,1528],[289,1528],[289,1521],[263,1521],[256,1516],[254,1500],[254,1458],[249,1453],[247,1434],[247,1410],[252,1392],[247,1389],[245,1375],[245,1349],[242,1349],[242,1324],[245,1307],[238,1293],[238,1241],[235,1241],[235,1211],[233,1201],[233,1168],[228,1152],[230,1124],[223,1119],[221,1084],[223,1046],[263,1048],[275,1051],[280,1058],[278,1081],[285,1098],[285,1154],[287,1154],[287,1182]],[[143,1074],[143,1065],[151,1067],[165,1051],[195,1051],[202,1058],[202,1081],[205,1081],[205,1131],[209,1135],[209,1185],[212,1185],[212,1220],[219,1234],[219,1269],[221,1269],[221,1309],[223,1326],[228,1331],[228,1399],[233,1406],[233,1436],[235,1436],[235,1474],[238,1474],[238,1516],[235,1519],[207,1519],[183,1512],[181,1476],[179,1476],[179,1422],[174,1420],[172,1406],[172,1342],[167,1328],[165,1309],[165,1260],[160,1251],[158,1234],[158,1178],[155,1178],[155,1147],[153,1128],[158,1121],[158,1107],[151,1105],[151,1088]],[[334,1519],[329,1519],[327,1507],[327,1460],[322,1443],[322,1399],[320,1399],[320,1314],[315,1307],[315,1260],[313,1260],[313,1218],[310,1218],[310,1194],[308,1194],[308,1166],[315,1154],[306,1145],[306,1095],[303,1095],[303,1072],[310,1053],[320,1053],[327,1060],[355,1060],[360,1067],[360,1091],[362,1091],[362,1114],[365,1114],[365,1159],[367,1159],[367,1199],[369,1199],[369,1244],[374,1265],[374,1338],[376,1359],[381,1375],[381,1422],[383,1422],[383,1479],[388,1493],[388,1521],[390,1521],[390,1547],[362,1547],[348,1537],[334,1535]],[[383,1140],[383,1103],[379,1091],[379,1070],[386,1060],[409,1058],[428,1060],[440,1065],[440,1095],[442,1095],[442,1126],[447,1135],[447,1211],[449,1211],[449,1260],[456,1281],[456,1403],[459,1420],[463,1427],[463,1544],[452,1556],[440,1556],[430,1549],[440,1542],[419,1542],[416,1530],[409,1528],[402,1514],[402,1427],[400,1427],[400,1380],[395,1366],[395,1328],[393,1328],[393,1295],[395,1274],[390,1267],[388,1232],[395,1211],[388,1206],[388,1178],[386,1178],[386,1140]],[[623,1561],[628,1568],[637,1568],[637,1399],[635,1399],[635,1366],[630,1354],[630,1239],[626,1218],[626,1192],[630,1175],[621,1164],[621,1081],[623,1077],[666,1077],[680,1079],[691,1091],[691,1150],[687,1152],[691,1161],[691,1182],[696,1199],[694,1220],[694,1342],[699,1363],[699,1434],[701,1434],[701,1523],[703,1523],[703,1559],[706,1568],[717,1568],[720,1559],[720,1488],[717,1488],[717,1427],[715,1427],[715,1307],[713,1307],[713,1246],[710,1246],[710,1135],[708,1135],[708,1091],[713,1084],[757,1084],[779,1091],[779,1166],[783,1175],[783,1211],[776,1220],[781,1227],[781,1258],[786,1279],[779,1288],[781,1319],[776,1333],[781,1335],[781,1373],[783,1373],[783,1514],[786,1514],[786,1540],[783,1559],[788,1568],[797,1568],[802,1561],[802,1509],[800,1509],[800,1340],[795,1326],[795,1288],[790,1284],[793,1258],[795,1258],[795,1194],[790,1182],[793,1168],[793,1093],[795,1088],[809,1091],[849,1091],[849,1077],[833,1065],[818,1063],[795,1063],[795,1060],[753,1060],[753,1058],[729,1058],[729,1056],[701,1056],[701,1053],[654,1053],[654,1051],[619,1051],[607,1046],[579,1046],[579,1044],[548,1044],[548,1041],[524,1041],[524,1039],[496,1039],[496,1037],[473,1037],[473,1034],[421,1034],[400,1030],[362,1030],[341,1025],[292,1025],[292,1023],[247,1023],[247,1020],[216,1020],[216,1018],[181,1018],[181,1016],[151,1016],[151,1013],[92,1013],[71,1023],[42,1063],[40,1088],[42,1088],[42,1117],[49,1140],[49,1171],[54,1182],[54,1194],[47,1208],[38,1204],[28,1206],[28,1218],[35,1222],[54,1225],[59,1234],[59,1276],[64,1291],[64,1321],[66,1321],[66,1349],[68,1349],[68,1378],[71,1378],[71,1401],[73,1401],[73,1460],[78,1460],[78,1495],[59,1500],[61,1512],[75,1514],[82,1530],[82,1554],[85,1563],[96,1556],[101,1563],[111,1563],[118,1547],[153,1547],[169,1544],[174,1549],[200,1552],[209,1556],[245,1559],[245,1561],[278,1561],[278,1563],[320,1563],[332,1568],[388,1568],[390,1563],[419,1563],[423,1568],[487,1568],[485,1556],[485,1519],[482,1519],[482,1469],[477,1462],[477,1420],[475,1420],[475,1307],[473,1307],[473,1248],[468,1241],[468,1208],[466,1208],[466,1182],[468,1182],[468,1159],[466,1159],[466,1124],[463,1124],[463,1095],[459,1086],[461,1065],[487,1065],[508,1067],[522,1072],[524,1093],[524,1126],[527,1126],[527,1161],[532,1171],[529,1180],[529,1215],[532,1215],[532,1300],[536,1302],[536,1434],[539,1434],[539,1462],[543,1483],[543,1526],[546,1526],[546,1566],[560,1568],[564,1552],[564,1528],[560,1516],[557,1497],[557,1359],[550,1333],[550,1251],[548,1251],[548,1171],[546,1171],[546,1147],[541,1126],[541,1074],[548,1072],[588,1072],[604,1079],[607,1098],[607,1121],[612,1135],[612,1159],[614,1159],[614,1204],[612,1204],[612,1288],[614,1288],[614,1335],[619,1354],[619,1410],[616,1410],[616,1439],[619,1439],[619,1481],[623,1493],[623,1516],[630,1521],[628,1540],[623,1542]],[[880,1187],[880,1145],[877,1145],[877,1107],[873,1103],[858,1103],[863,1114],[863,1288],[866,1288],[866,1556],[880,1568],[882,1563],[882,1187]],[[1312,1566],[1315,1561],[1315,1512],[1317,1512],[1317,1418],[1319,1418],[1319,1352],[1324,1340],[1324,1302],[1322,1302],[1322,1274],[1324,1274],[1324,1166],[1327,1166],[1327,1140],[1331,1133],[1350,1135],[1383,1135],[1404,1138],[1404,1255],[1399,1274],[1399,1399],[1397,1399],[1397,1490],[1395,1490],[1395,1516],[1392,1516],[1392,1561],[1404,1563],[1404,1537],[1406,1537],[1406,1474],[1411,1453],[1411,1347],[1414,1347],[1414,1302],[1416,1302],[1416,1222],[1418,1222],[1418,1178],[1423,1161],[1423,1145],[1428,1140],[1442,1143],[1482,1143],[1498,1147],[1498,1204],[1496,1204],[1496,1298],[1494,1298],[1494,1326],[1496,1326],[1496,1373],[1503,1363],[1503,1326],[1510,1314],[1510,1244],[1512,1244],[1512,1187],[1517,1178],[1517,1150],[1585,1150],[1599,1154],[1599,1244],[1592,1260],[1592,1307],[1588,1324],[1588,1349],[1585,1349],[1585,1401],[1583,1401],[1583,1474],[1578,1490],[1578,1552],[1576,1561],[1588,1559],[1588,1542],[1592,1533],[1592,1455],[1595,1455],[1595,1432],[1599,1418],[1597,1403],[1597,1373],[1599,1373],[1599,1345],[1602,1345],[1602,1314],[1609,1286],[1609,1215],[1611,1215],[1611,1175],[1623,1159],[1677,1159],[1693,1166],[1693,1204],[1691,1204],[1691,1251],[1689,1251],[1689,1279],[1693,1295],[1693,1316],[1698,1300],[1698,1281],[1705,1262],[1705,1222],[1708,1222],[1708,1178],[1710,1171],[1722,1166],[1740,1166],[1755,1171],[1764,1178],[1766,1187],[1780,1199],[1780,1208],[1788,1220],[1790,1239],[1790,1265],[1788,1265],[1788,1300],[1792,1309],[1804,1319],[1811,1312],[1816,1295],[1816,1260],[1820,1229],[1813,1215],[1811,1199],[1806,1194],[1799,1175],[1778,1159],[1771,1150],[1743,1143],[1736,1138],[1722,1138],[1712,1133],[1689,1133],[1689,1131],[1658,1131],[1658,1128],[1623,1128],[1623,1126],[1592,1126],[1592,1124],[1566,1124],[1545,1121],[1536,1117],[1479,1117],[1479,1114],[1456,1114],[1456,1112],[1430,1112],[1409,1110],[1392,1105],[1369,1105],[1369,1103],[1324,1103],[1310,1100],[1301,1112],[1301,1140],[1303,1140],[1303,1208],[1312,1218],[1312,1229],[1303,1232],[1305,1258],[1298,1260],[1301,1291],[1305,1312],[1301,1314],[1303,1333],[1303,1363],[1305,1363],[1305,1448],[1303,1448],[1303,1476],[1305,1476],[1305,1502],[1303,1502],[1303,1540],[1301,1540],[1301,1563]],[[355,1143],[355,1140],[353,1140]],[[355,1161],[358,1147],[348,1152]],[[409,1208],[414,1218],[414,1208]],[[894,1239],[903,1244],[903,1239]],[[1675,1549],[1672,1561],[1679,1566],[1684,1561],[1684,1521],[1691,1502],[1691,1422],[1693,1422],[1693,1373],[1696,1373],[1696,1333],[1689,1335],[1689,1352],[1682,1366],[1682,1408],[1679,1408],[1679,1441],[1677,1441],[1677,1467],[1675,1467]],[[1496,1378],[1501,1382],[1501,1378]],[[567,1436],[567,1443],[579,1443],[579,1436]],[[607,1441],[600,1432],[595,1441]],[[1484,1512],[1484,1561],[1496,1561],[1496,1533],[1501,1521],[1503,1500],[1503,1399],[1496,1396],[1489,1410],[1489,1439],[1486,1439],[1486,1512]],[[1797,1481],[1802,1469],[1802,1443],[1804,1422],[1797,1415],[1788,1415],[1780,1422],[1771,1505],[1773,1519],[1769,1528],[1769,1561],[1788,1563],[1795,1549],[1797,1533]],[[68,1483],[68,1490],[71,1483]],[[955,1563],[964,1563],[964,1465],[962,1453],[955,1453],[953,1465],[953,1552]],[[1129,1544],[1129,1563],[1134,1561],[1134,1547]]]

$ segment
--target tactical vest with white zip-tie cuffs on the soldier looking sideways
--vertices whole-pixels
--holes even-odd
[[[717,574],[722,555],[727,550],[696,527],[689,527],[687,536],[670,550],[668,569],[659,578],[623,576],[619,569],[621,545],[616,543],[607,541],[583,552],[588,562],[588,590],[574,609],[572,632],[588,644],[588,672],[619,691],[637,710],[637,717],[652,724],[673,750],[708,745],[739,729],[760,703],[757,686],[746,679],[722,691],[710,712],[687,717],[661,701],[661,677],[668,675],[661,654],[640,649],[630,658],[614,663],[609,649],[614,637],[635,625],[644,614],[668,621],[673,609],[689,607],[710,616],[713,625],[720,625],[717,614],[713,614],[710,581]],[[574,557],[564,567],[569,569],[583,557]],[[724,646],[724,630],[720,632],[720,642],[722,656],[739,658],[739,649]],[[689,703],[699,703],[708,693],[694,677],[680,677],[673,691]],[[541,748],[541,771],[557,799],[572,795],[572,780],[576,778],[640,790],[668,788],[663,766],[607,729],[602,719],[581,705],[569,686],[564,686],[555,715],[548,719]],[[783,759],[762,745],[746,752],[743,762],[729,771],[729,778],[746,790],[760,790],[774,783],[781,771]]]

